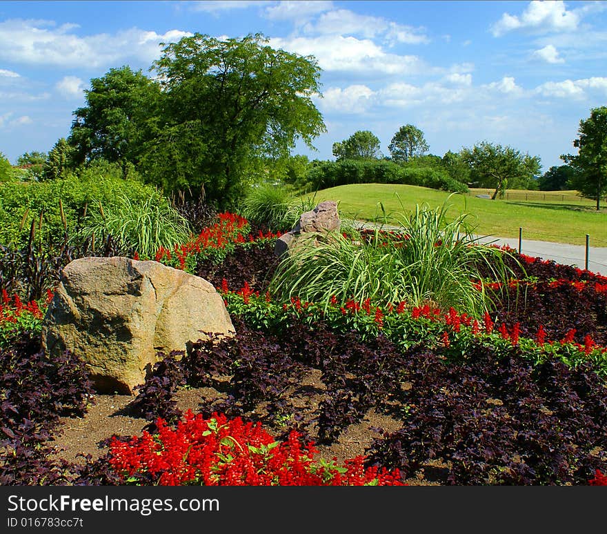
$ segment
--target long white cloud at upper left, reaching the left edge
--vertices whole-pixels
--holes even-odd
[[[79,37],[70,33],[75,27],[23,19],[0,22],[0,59],[70,68],[108,66],[126,58],[150,62],[160,55],[159,43],[191,35],[180,30],[157,34],[130,28],[116,34]]]

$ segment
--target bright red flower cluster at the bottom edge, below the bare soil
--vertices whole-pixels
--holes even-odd
[[[128,442],[114,438],[110,464],[127,481],[151,476],[161,486],[403,486],[398,469],[364,468],[364,457],[317,462],[312,442],[302,445],[292,431],[279,442],[261,424],[188,411],[172,428],[157,421],[158,434],[143,432]]]

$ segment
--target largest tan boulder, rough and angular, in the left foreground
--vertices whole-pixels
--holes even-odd
[[[132,394],[158,360],[203,333],[235,328],[205,279],[125,257],[68,264],[42,325],[47,354],[70,350],[86,362],[97,391]]]

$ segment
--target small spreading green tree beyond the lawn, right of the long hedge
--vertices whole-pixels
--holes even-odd
[[[510,146],[481,141],[470,148],[463,148],[461,158],[470,167],[470,175],[479,187],[495,188],[491,197],[504,195],[509,182],[529,181],[541,168],[539,156],[522,155]]]

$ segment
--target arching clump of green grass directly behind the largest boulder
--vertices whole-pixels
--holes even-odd
[[[161,247],[172,249],[175,244],[188,241],[190,228],[159,192],[133,200],[121,191],[112,201],[103,204],[99,200],[90,206],[81,233],[99,240],[112,235],[141,257],[150,258]]]

